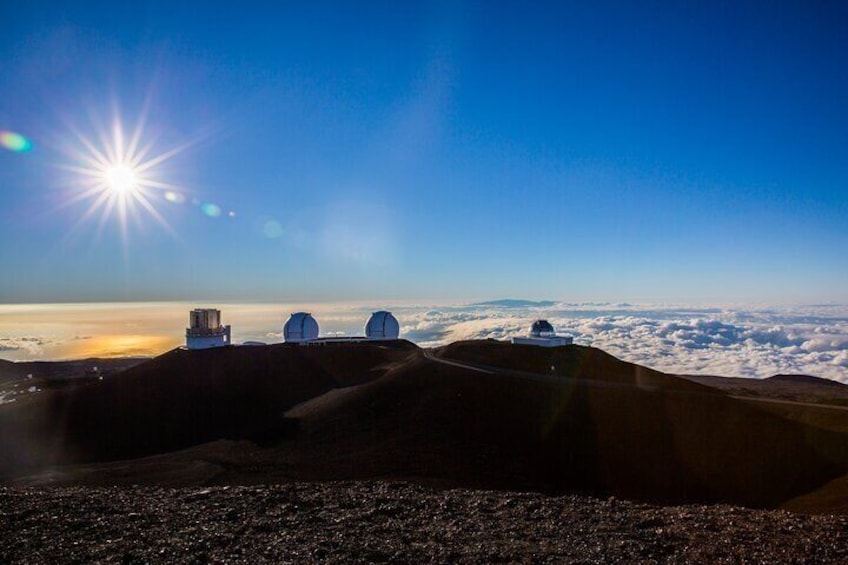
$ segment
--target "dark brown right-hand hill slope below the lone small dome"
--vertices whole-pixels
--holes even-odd
[[[587,349],[466,343],[466,358],[511,370],[549,368],[562,354],[563,366],[581,362],[571,365],[579,378],[533,381],[419,356],[301,406],[298,473],[776,507],[848,468],[844,435]]]

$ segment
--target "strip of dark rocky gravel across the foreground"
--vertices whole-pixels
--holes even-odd
[[[848,563],[848,516],[406,483],[0,488],[0,563]]]

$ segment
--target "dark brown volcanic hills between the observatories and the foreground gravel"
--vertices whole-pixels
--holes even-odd
[[[121,480],[170,465],[185,484],[214,460],[221,471],[198,481],[405,479],[773,508],[848,471],[845,433],[576,345],[173,351],[39,395],[0,409],[7,477],[95,462],[88,476],[104,484],[117,463],[97,462],[158,454],[122,462]]]

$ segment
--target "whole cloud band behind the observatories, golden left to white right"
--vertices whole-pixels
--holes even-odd
[[[158,355],[184,343],[188,310],[197,306],[132,303],[10,307],[8,312],[0,311],[0,358]],[[325,336],[362,335],[371,312],[388,309],[400,321],[401,337],[422,347],[464,339],[506,340],[526,334],[534,320],[544,318],[577,344],[598,347],[625,361],[669,373],[753,378],[807,374],[848,384],[845,305],[691,307],[500,300],[436,306],[202,306],[222,310],[224,323],[233,326],[235,343],[278,343],[289,313],[301,309],[314,313]],[[46,314],[39,314],[42,311]],[[39,318],[42,315],[45,320]],[[66,319],[59,329],[58,318]],[[121,338],[117,340],[115,333],[127,335],[117,336]]]

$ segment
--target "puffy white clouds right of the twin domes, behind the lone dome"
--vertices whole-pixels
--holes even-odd
[[[848,307],[646,306],[495,301],[397,309],[407,339],[435,346],[509,339],[538,318],[580,345],[676,374],[764,378],[808,374],[848,383]]]

